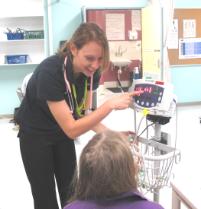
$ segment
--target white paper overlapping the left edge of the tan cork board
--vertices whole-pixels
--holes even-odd
[[[178,49],[178,19],[172,21],[170,31],[168,32],[167,47],[168,49]]]

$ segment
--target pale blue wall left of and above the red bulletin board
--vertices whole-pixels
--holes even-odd
[[[146,3],[147,0],[60,0],[58,3],[53,3],[48,7],[49,32],[52,34],[49,40],[50,53],[54,53],[59,46],[59,41],[68,39],[83,21],[81,12],[83,7],[142,8]]]

